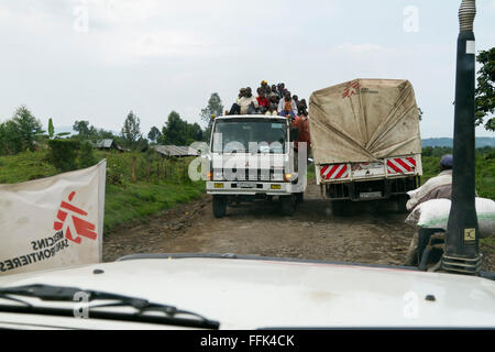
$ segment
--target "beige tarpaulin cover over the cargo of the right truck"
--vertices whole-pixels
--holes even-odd
[[[316,164],[373,162],[421,153],[413,85],[355,79],[312,92],[311,146]]]

